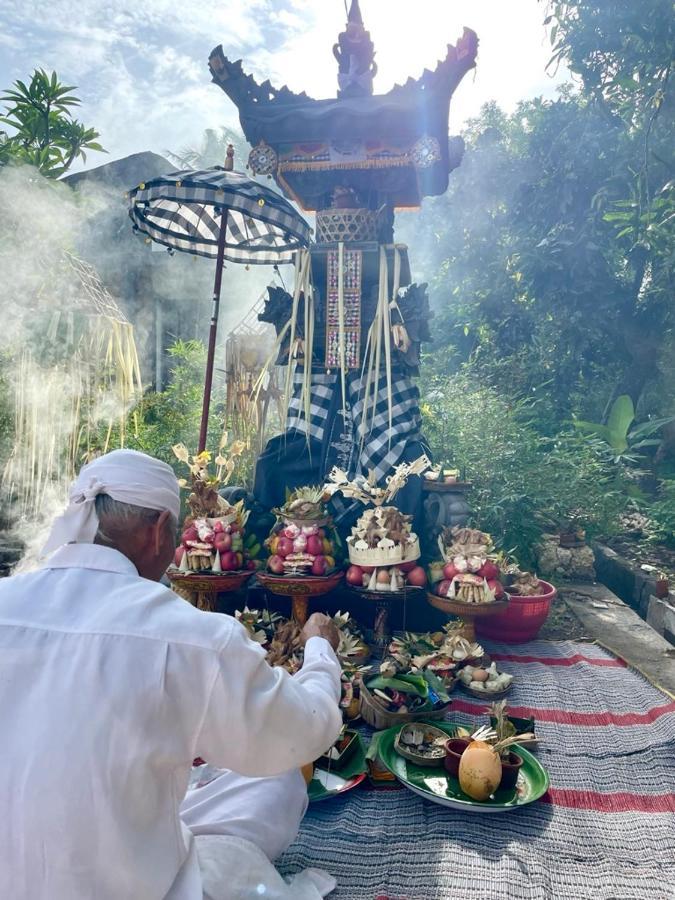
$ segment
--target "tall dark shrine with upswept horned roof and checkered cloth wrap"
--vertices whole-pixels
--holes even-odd
[[[249,169],[316,213],[316,241],[297,254],[293,293],[270,288],[260,316],[274,324],[277,363],[287,366],[286,432],[256,472],[268,508],[283,503],[286,488],[323,483],[333,465],[383,481],[426,449],[412,378],[429,340],[429,304],[426,285],[412,283],[407,248],[394,241],[394,213],[447,189],[463,153],[461,139],[448,138],[450,98],[477,47],[465,29],[435,69],[373,94],[375,49],[352,0],[333,47],[335,99],[258,84],[222,46],[211,53],[213,80],[253,148]],[[398,505],[417,515],[420,502],[411,479]],[[350,512],[333,509],[345,525]]]

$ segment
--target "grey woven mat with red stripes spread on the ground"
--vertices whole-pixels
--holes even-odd
[[[281,871],[327,869],[332,900],[672,900],[675,702],[594,645],[486,649],[535,716],[548,794],[490,816],[357,788],[310,808]],[[451,721],[486,709],[453,700]]]

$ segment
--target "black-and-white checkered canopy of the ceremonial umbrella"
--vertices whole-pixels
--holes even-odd
[[[159,244],[198,256],[218,255],[227,211],[223,258],[253,265],[289,263],[309,243],[309,226],[279,194],[218,166],[161,175],[129,191],[134,229]]]

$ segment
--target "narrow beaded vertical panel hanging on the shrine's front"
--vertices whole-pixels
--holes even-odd
[[[328,285],[326,302],[326,368],[340,366],[340,316],[338,312],[339,255],[328,254]],[[360,250],[344,249],[343,305],[345,369],[356,369],[361,355],[361,267]]]

